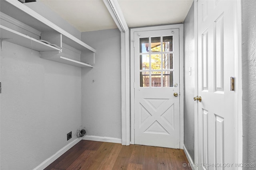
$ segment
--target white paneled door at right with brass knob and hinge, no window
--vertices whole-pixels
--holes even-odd
[[[198,0],[198,169],[235,169],[235,3]]]

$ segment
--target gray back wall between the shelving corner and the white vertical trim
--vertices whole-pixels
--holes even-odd
[[[82,126],[87,135],[121,139],[120,31],[82,33],[96,49],[95,67],[82,68]]]

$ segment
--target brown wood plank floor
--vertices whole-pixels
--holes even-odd
[[[182,149],[82,140],[45,170],[191,170]]]

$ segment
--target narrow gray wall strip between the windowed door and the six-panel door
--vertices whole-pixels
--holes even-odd
[[[194,161],[194,2],[184,21],[184,145]],[[189,69],[191,67],[191,75]]]

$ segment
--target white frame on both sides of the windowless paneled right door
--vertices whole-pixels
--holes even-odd
[[[198,2],[194,0],[194,39],[195,39],[195,91],[194,96],[198,96]],[[234,56],[234,77],[235,77],[235,131],[236,131],[236,163],[243,162],[243,138],[242,138],[242,11],[241,0],[235,4],[235,23],[234,23],[234,46],[236,51]],[[194,104],[194,164],[198,164],[198,102]],[[228,163],[228,162],[227,162]],[[194,167],[195,170],[198,167]],[[242,167],[236,167],[242,170]]]

